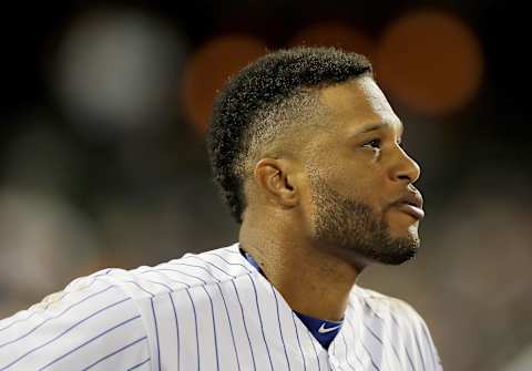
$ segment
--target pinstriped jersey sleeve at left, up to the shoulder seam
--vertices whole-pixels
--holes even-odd
[[[116,285],[84,277],[0,321],[0,369],[133,367],[150,358],[142,316]],[[124,357],[112,357],[112,349]],[[121,352],[121,355],[123,355]]]

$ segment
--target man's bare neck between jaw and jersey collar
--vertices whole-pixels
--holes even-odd
[[[293,310],[341,320],[360,269],[306,240],[303,230],[290,223],[266,224],[268,228],[265,223],[245,220],[239,233],[241,247],[254,257]]]

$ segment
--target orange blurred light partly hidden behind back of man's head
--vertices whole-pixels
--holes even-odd
[[[187,61],[183,81],[184,111],[201,133],[207,130],[216,93],[228,76],[266,53],[259,39],[245,34],[211,40]]]

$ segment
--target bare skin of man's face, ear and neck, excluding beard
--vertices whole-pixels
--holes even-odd
[[[351,79],[318,94],[327,109],[326,128],[309,125],[305,151],[257,162],[246,183],[239,241],[294,310],[340,320],[358,275],[367,265],[382,261],[361,253],[357,244],[336,244],[335,234],[317,237],[319,209],[310,173],[317,173],[331,189],[327,192],[369,206],[391,239],[411,241],[416,250],[422,216],[412,216],[395,203],[407,193],[418,193],[412,184],[420,168],[400,146],[402,124],[372,78]],[[360,133],[375,124],[383,126]],[[380,143],[371,142],[376,138]]]

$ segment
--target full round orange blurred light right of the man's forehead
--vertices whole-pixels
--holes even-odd
[[[462,107],[481,83],[479,41],[458,17],[417,11],[383,33],[375,59],[379,83],[393,97],[424,114]]]

